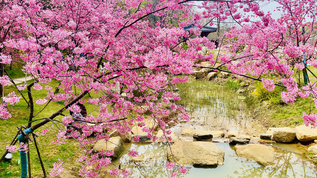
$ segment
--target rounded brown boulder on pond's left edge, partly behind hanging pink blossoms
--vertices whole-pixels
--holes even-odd
[[[100,139],[93,147],[95,152],[112,150],[114,153],[111,158],[118,158],[123,151],[123,140],[120,136],[111,137],[108,141]]]

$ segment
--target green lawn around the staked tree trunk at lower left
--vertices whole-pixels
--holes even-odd
[[[30,84],[31,82],[33,81],[28,81],[28,84]],[[54,89],[56,86],[58,86],[58,84],[59,84],[58,81],[52,81],[47,85],[52,86]],[[77,89],[77,93],[79,93],[80,89],[78,88],[76,89]],[[15,89],[14,86],[5,87],[5,94],[11,91],[15,91],[15,93],[18,93],[18,91]],[[34,95],[33,96],[34,102],[38,98],[44,98],[46,96],[45,89],[41,91],[32,89],[32,93]],[[28,99],[27,92],[25,90],[22,91],[22,94]],[[93,98],[100,96],[99,93],[95,93],[95,92],[90,92],[90,95]],[[84,99],[86,99],[87,97],[88,96],[85,96]],[[44,105],[38,105],[34,103],[34,110],[35,110],[34,114],[40,111]],[[37,115],[33,120],[48,117],[52,115],[56,110],[62,108],[63,106],[64,106],[63,102],[51,102],[45,108],[45,110],[43,110],[43,112]],[[88,113],[95,109],[95,105],[92,105],[90,103],[85,103],[85,106]],[[8,110],[10,111],[12,118],[9,118],[7,120],[0,120],[0,137],[1,137],[0,154],[1,155],[4,152],[6,146],[10,144],[11,140],[16,134],[16,131],[17,131],[16,127],[21,125],[27,126],[29,112],[30,112],[30,109],[27,108],[27,103],[23,100],[23,98],[20,99],[19,103],[15,105],[9,105]],[[92,112],[92,114],[95,116],[98,115],[98,113],[99,113],[98,109]],[[64,114],[69,115],[69,112]],[[56,119],[60,120],[61,118],[62,116],[59,116]],[[49,126],[50,126],[50,123],[41,127],[36,132],[41,133],[41,131],[43,131],[45,128]],[[53,126],[51,127],[51,131],[49,131],[46,135],[39,134],[39,138],[37,138],[37,142],[39,144],[39,149],[40,149],[41,156],[44,162],[44,166],[47,170],[46,171],[47,174],[49,173],[49,170],[53,167],[53,163],[56,162],[58,158],[61,158],[65,162],[64,163],[65,167],[75,167],[75,169],[80,168],[79,163],[75,162],[77,155],[80,155],[80,153],[76,152],[76,150],[79,148],[77,142],[73,139],[69,139],[67,140],[65,144],[55,145],[52,143],[52,141],[55,139],[57,132],[58,132],[57,127]],[[34,178],[42,178],[42,175],[43,175],[42,168],[41,168],[39,158],[37,156],[36,148],[33,142],[30,143],[30,154],[31,154],[32,176],[34,176]],[[11,162],[8,163],[8,162],[2,161],[0,163],[0,178],[19,178],[20,177],[19,159],[20,159],[20,154],[19,152],[17,152],[17,153],[13,153],[13,159]]]

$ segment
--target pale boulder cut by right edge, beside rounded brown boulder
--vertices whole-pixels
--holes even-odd
[[[297,126],[296,130],[296,137],[300,141],[312,141],[317,139],[317,128],[312,129],[305,125]]]

